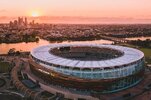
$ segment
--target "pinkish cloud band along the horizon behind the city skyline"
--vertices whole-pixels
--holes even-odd
[[[86,16],[0,16],[0,23],[9,23],[18,17],[27,17],[38,23],[60,24],[151,24],[151,18],[86,17]]]

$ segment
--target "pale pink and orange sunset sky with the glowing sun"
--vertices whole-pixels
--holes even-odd
[[[0,0],[1,20],[17,16],[145,23],[151,22],[151,0]]]

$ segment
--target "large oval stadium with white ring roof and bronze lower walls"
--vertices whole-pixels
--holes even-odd
[[[144,77],[144,54],[102,44],[50,44],[31,51],[30,70],[43,81],[85,93],[113,93]]]

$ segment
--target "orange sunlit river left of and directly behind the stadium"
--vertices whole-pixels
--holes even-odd
[[[52,42],[54,43],[54,42]],[[17,51],[31,51],[33,48],[41,46],[41,45],[47,45],[47,44],[52,44],[49,41],[43,40],[43,39],[39,39],[39,42],[30,42],[30,43],[10,43],[10,44],[6,44],[6,43],[2,43],[0,44],[0,54],[7,54],[7,52],[12,49],[15,48],[15,50]],[[69,41],[64,41],[61,43],[97,43],[97,44],[112,44],[112,41],[108,41],[108,40],[93,40],[93,41],[75,41],[75,42],[69,42]]]

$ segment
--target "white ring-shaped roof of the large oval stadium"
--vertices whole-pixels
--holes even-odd
[[[109,59],[109,60],[100,60],[100,61],[80,61],[72,60],[63,57],[53,55],[49,52],[50,49],[57,47],[66,47],[66,46],[90,46],[98,48],[111,48],[114,50],[119,50],[124,54],[120,57]],[[31,55],[39,60],[48,62],[51,64],[69,66],[69,67],[79,67],[79,68],[105,68],[105,67],[114,67],[133,63],[137,60],[140,60],[144,57],[144,54],[133,48],[116,46],[116,45],[102,45],[102,44],[50,44],[45,46],[40,46],[31,51]]]

